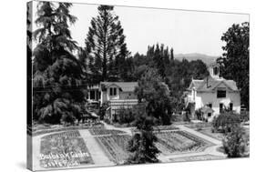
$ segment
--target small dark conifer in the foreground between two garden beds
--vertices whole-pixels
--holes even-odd
[[[136,119],[138,133],[128,142],[128,151],[132,153],[128,157],[127,164],[145,164],[159,162],[159,149],[155,146],[158,138],[153,134],[153,118],[147,116],[145,106],[140,106]]]

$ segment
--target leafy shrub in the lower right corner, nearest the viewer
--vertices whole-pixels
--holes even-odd
[[[249,137],[241,126],[233,126],[222,144],[228,157],[248,157]]]

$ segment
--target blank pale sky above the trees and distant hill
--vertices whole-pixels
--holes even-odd
[[[249,15],[244,14],[128,6],[115,6],[114,13],[119,16],[132,55],[146,54],[148,46],[159,43],[173,47],[174,54],[221,56],[221,46],[225,45],[221,35],[232,24],[249,21]],[[73,39],[84,47],[90,21],[97,16],[97,5],[73,4],[70,14],[77,16],[70,27]]]

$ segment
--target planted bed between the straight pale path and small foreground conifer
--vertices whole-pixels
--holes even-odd
[[[112,135],[97,137],[97,141],[105,150],[108,158],[116,164],[123,164],[128,158],[128,135]]]

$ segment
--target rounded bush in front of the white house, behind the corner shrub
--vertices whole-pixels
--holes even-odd
[[[219,131],[220,133],[228,133],[233,126],[239,126],[240,123],[241,118],[238,114],[224,112],[213,119],[212,127],[215,131]]]

